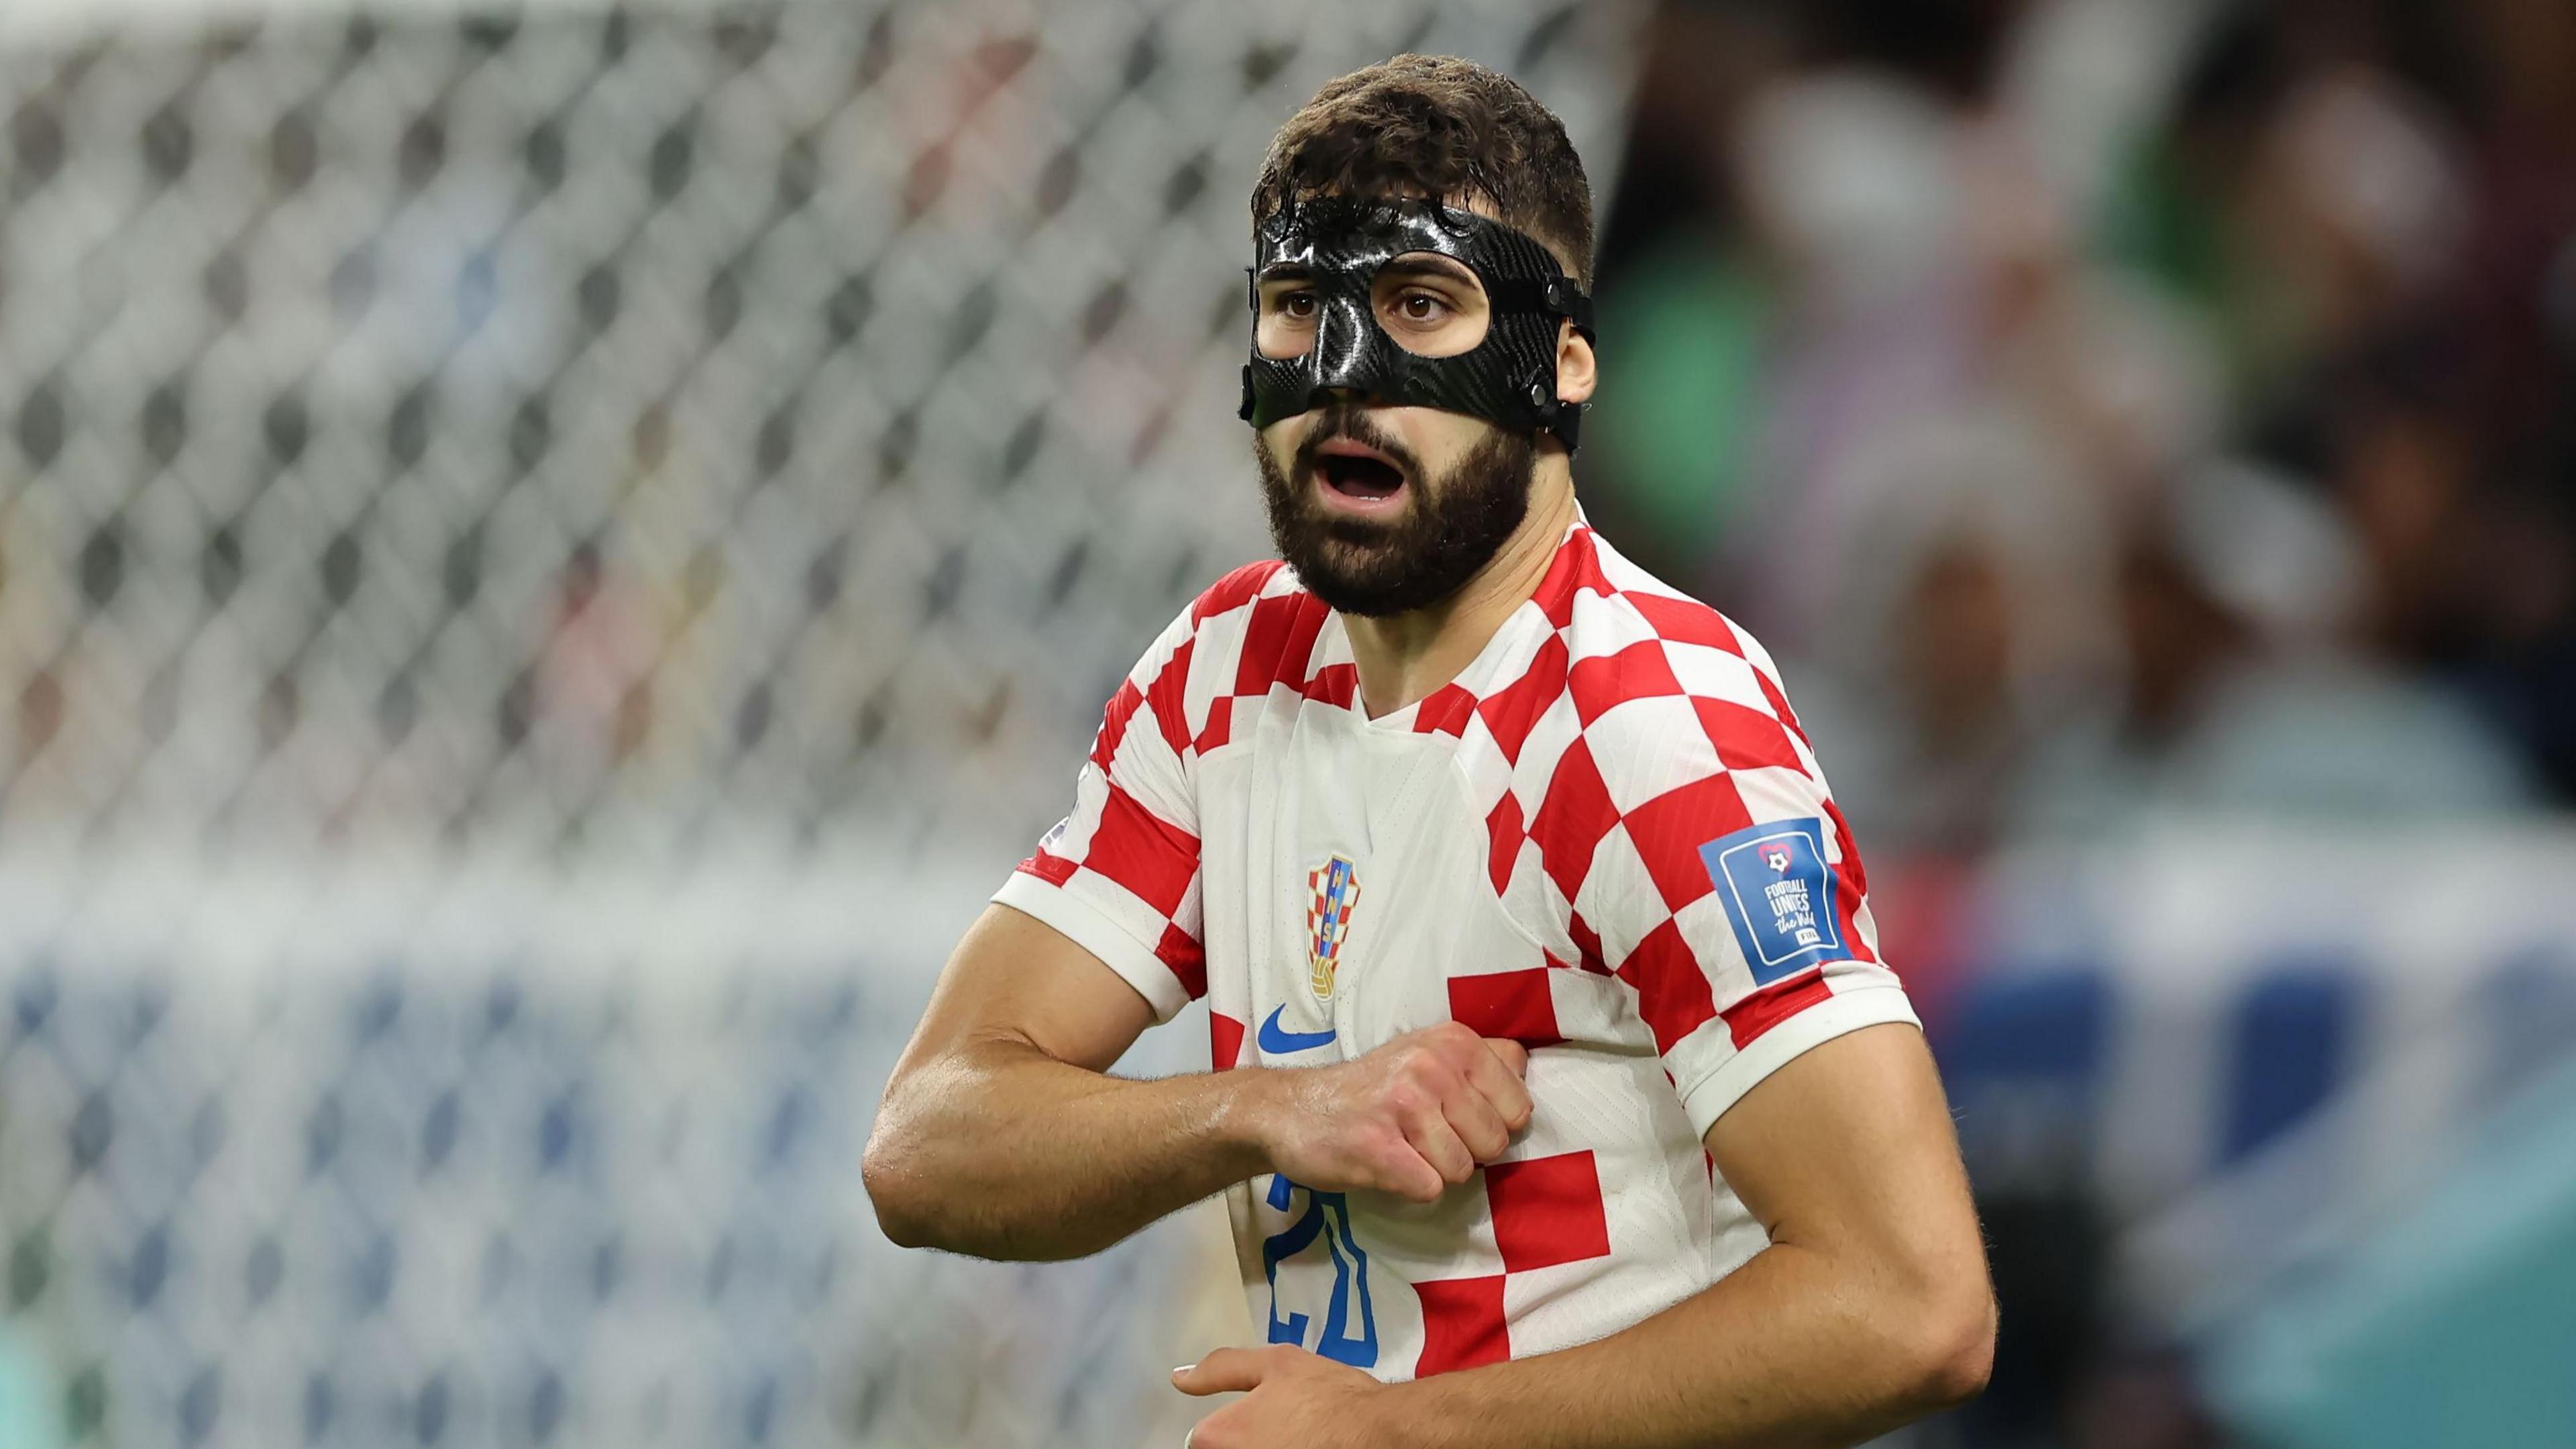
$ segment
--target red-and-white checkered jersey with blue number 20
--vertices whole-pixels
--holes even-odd
[[[1569,529],[1432,696],[1370,719],[1342,621],[1236,570],[1110,699],[1072,815],[994,900],[1064,931],[1216,1067],[1458,1018],[1530,1049],[1530,1127],[1435,1204],[1231,1189],[1273,1343],[1404,1379],[1615,1333],[1762,1227],[1700,1147],[1783,1062],[1914,1021],[1770,655]]]

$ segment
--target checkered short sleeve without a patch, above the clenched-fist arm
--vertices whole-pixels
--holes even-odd
[[[1118,686],[1074,781],[1072,812],[994,892],[1108,962],[1157,1021],[1208,990],[1182,706],[1190,634],[1193,616],[1182,614]]]

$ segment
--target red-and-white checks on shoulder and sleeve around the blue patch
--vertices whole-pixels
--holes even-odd
[[[1754,1042],[1839,990],[1896,985],[1860,851],[1777,665],[1716,608],[1579,526],[1512,624],[1525,663],[1453,712],[1489,879],[1548,964],[1636,987],[1705,1132],[1777,1065],[1741,1060]],[[1826,825],[1847,959],[1762,985],[1698,851],[1798,817]]]

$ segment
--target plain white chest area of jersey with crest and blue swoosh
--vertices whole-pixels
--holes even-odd
[[[1450,977],[1535,962],[1486,879],[1448,737],[1285,727],[1231,763],[1200,820],[1206,946],[1247,1062],[1358,1057],[1448,1021]]]

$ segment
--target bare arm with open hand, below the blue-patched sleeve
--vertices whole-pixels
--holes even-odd
[[[1180,1387],[1255,1392],[1211,1415],[1198,1449],[1803,1449],[1857,1444],[1984,1387],[1986,1253],[1911,1026],[1788,1062],[1708,1129],[1708,1150],[1770,1248],[1703,1294],[1582,1348],[1383,1390],[1311,1354],[1226,1348]],[[1332,1428],[1350,1423],[1368,1428]]]

